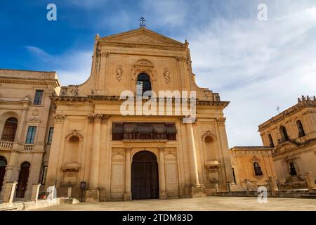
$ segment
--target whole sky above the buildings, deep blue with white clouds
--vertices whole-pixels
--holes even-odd
[[[57,6],[57,21],[46,6]],[[258,21],[258,4],[268,20]],[[93,41],[138,28],[190,42],[197,84],[230,101],[229,146],[259,146],[258,124],[316,95],[316,1],[6,1],[0,3],[0,68],[57,71],[84,82]]]

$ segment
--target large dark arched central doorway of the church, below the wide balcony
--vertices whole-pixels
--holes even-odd
[[[159,198],[158,164],[153,153],[143,150],[133,156],[131,176],[132,199]]]

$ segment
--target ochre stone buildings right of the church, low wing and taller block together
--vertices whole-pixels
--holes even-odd
[[[316,99],[302,96],[298,103],[259,126],[263,146],[230,149],[239,186],[281,189],[307,188],[305,174],[316,174]]]

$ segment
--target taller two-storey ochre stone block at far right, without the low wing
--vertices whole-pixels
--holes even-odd
[[[279,184],[305,187],[305,174],[316,174],[316,99],[302,96],[298,103],[259,125],[264,146],[271,146]]]

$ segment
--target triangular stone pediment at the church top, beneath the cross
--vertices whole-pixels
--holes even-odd
[[[121,43],[136,43],[136,44],[167,44],[175,46],[184,46],[185,44],[176,41],[162,34],[141,27],[136,30],[130,30],[119,34],[110,35],[100,38],[101,41],[114,41]]]

